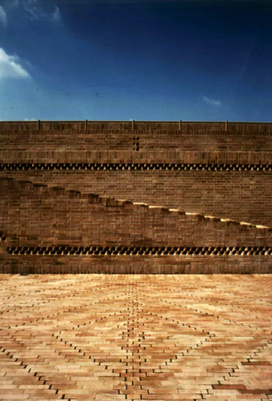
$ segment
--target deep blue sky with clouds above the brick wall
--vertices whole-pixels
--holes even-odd
[[[0,0],[0,120],[272,122],[270,0]]]

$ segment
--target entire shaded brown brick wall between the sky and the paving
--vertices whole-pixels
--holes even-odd
[[[0,138],[2,273],[272,273],[272,124],[2,122]]]

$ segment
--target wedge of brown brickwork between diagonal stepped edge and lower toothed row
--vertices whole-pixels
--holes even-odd
[[[0,180],[1,227],[10,244],[269,246],[259,229],[109,198]],[[14,240],[12,240],[14,238]]]

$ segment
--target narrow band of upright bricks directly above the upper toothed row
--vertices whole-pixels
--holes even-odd
[[[1,134],[0,134],[1,137]],[[216,164],[269,164],[271,166],[271,151],[194,151],[194,150],[167,150],[157,149],[148,151],[131,150],[65,150],[65,146],[55,146],[46,150],[46,143],[37,150],[36,145],[32,150],[15,150],[5,144],[0,150],[1,164],[4,163],[216,163]],[[101,145],[102,146],[102,145]],[[105,144],[104,144],[105,146]],[[26,146],[24,146],[26,148]]]

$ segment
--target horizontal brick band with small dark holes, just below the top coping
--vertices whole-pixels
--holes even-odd
[[[3,150],[127,150],[140,151],[260,152],[272,150],[272,132],[176,130],[36,130],[1,131]],[[135,139],[134,139],[135,138]],[[139,138],[139,139],[138,139]],[[125,154],[124,154],[125,155]],[[138,157],[136,152],[135,158]]]

